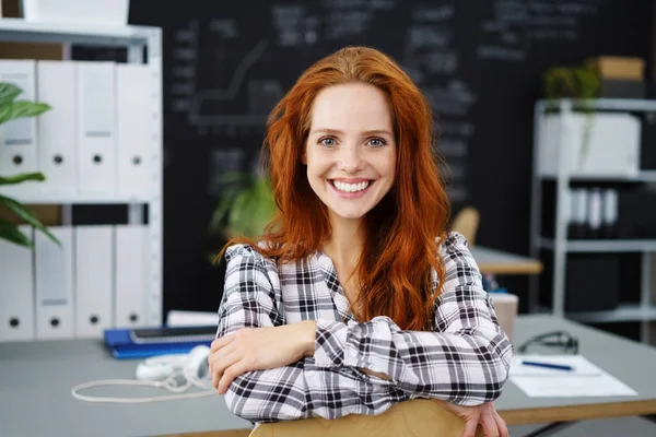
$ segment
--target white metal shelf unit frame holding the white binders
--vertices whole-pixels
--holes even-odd
[[[163,122],[162,122],[162,29],[151,26],[104,27],[102,25],[34,23],[22,19],[0,19],[0,40],[19,43],[51,43],[95,47],[122,47],[127,49],[128,62],[147,64],[151,71],[153,98],[153,135],[152,150],[147,158],[152,165],[151,192],[145,198],[130,196],[23,196],[14,197],[27,204],[61,204],[62,221],[67,224],[71,218],[73,204],[127,204],[128,223],[138,224],[143,217],[144,205],[148,205],[148,296],[147,320],[151,326],[162,323],[162,192],[163,192]],[[144,59],[144,49],[147,58]],[[70,54],[70,50],[69,50]]]

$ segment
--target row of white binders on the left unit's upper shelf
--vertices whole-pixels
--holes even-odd
[[[19,101],[51,107],[0,127],[0,175],[46,177],[11,186],[7,193],[150,194],[149,162],[161,147],[159,91],[148,66],[3,59],[0,81],[23,90]]]

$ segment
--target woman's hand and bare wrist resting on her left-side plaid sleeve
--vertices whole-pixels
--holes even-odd
[[[224,394],[232,381],[251,370],[286,366],[314,355],[316,321],[274,328],[243,328],[212,342],[208,357],[212,385]]]

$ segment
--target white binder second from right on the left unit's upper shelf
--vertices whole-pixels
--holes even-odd
[[[79,192],[116,192],[115,64],[78,61]]]

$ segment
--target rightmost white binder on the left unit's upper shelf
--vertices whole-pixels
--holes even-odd
[[[116,64],[116,128],[118,192],[150,194],[150,155],[153,151],[152,78],[148,66]]]

